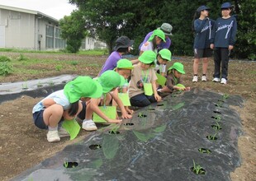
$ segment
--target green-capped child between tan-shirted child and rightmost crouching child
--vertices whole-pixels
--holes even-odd
[[[161,49],[155,59],[155,67],[154,70],[165,76],[166,63],[171,61],[172,53],[168,49]]]

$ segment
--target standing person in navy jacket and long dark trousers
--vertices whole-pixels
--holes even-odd
[[[235,16],[230,16],[232,5],[224,2],[221,7],[222,16],[216,20],[211,36],[211,49],[214,49],[213,80],[221,84],[227,83],[230,51],[234,49],[237,23]],[[221,63],[221,73],[220,73]],[[220,80],[221,77],[221,80]]]

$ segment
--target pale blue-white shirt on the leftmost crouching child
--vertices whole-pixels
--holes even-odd
[[[55,101],[55,103],[60,104],[64,110],[67,110],[70,108],[70,103],[69,103],[67,96],[64,95],[64,90],[55,91],[55,92],[51,93],[50,95],[48,95],[47,97],[45,97],[45,99],[53,99]],[[32,110],[33,114],[42,109],[45,109],[45,106],[43,105],[43,101],[45,99],[40,100],[40,102],[34,106],[34,108]]]

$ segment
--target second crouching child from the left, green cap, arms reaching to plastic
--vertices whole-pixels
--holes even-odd
[[[113,100],[116,101],[116,103],[120,107],[122,118],[131,118],[131,115],[127,114],[124,105],[122,104],[121,100],[118,98],[118,95],[115,95],[112,93],[113,90],[116,90],[116,87],[124,85],[125,83],[124,77],[121,77],[115,71],[106,71],[102,73],[101,77],[96,78],[94,81],[97,81],[102,85],[103,96],[102,96],[102,99],[101,98],[91,99],[90,102],[88,102],[86,107],[86,117],[83,120],[82,128],[85,129],[86,131],[97,130],[95,123],[92,121],[93,112],[95,112],[101,118],[105,119],[107,123],[121,123],[121,120],[119,119],[108,118],[107,115],[102,113],[101,109],[98,108],[99,104],[102,104],[102,105],[110,104],[111,97],[113,98]]]

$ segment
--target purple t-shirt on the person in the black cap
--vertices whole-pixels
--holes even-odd
[[[120,60],[122,57],[121,55],[114,51],[112,52],[109,57],[107,58],[106,62],[104,63],[102,67],[102,71],[99,73],[99,77],[102,75],[103,72],[106,72],[108,70],[113,70],[116,67],[116,63],[118,60]]]

